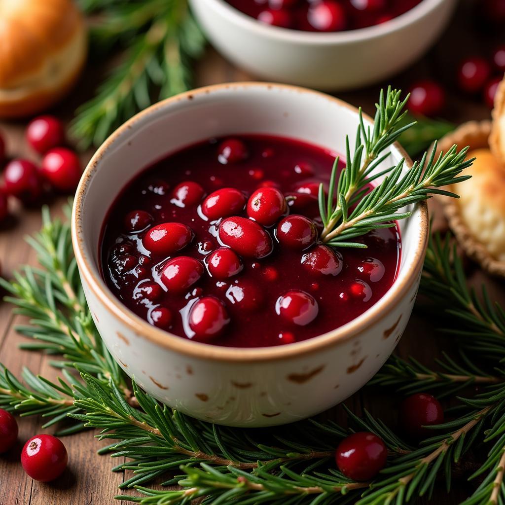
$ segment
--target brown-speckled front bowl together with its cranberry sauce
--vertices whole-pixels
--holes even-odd
[[[74,250],[100,335],[144,389],[200,419],[268,426],[328,409],[382,366],[414,305],[426,206],[398,222],[401,255],[393,228],[364,237],[368,252],[311,257],[302,216],[317,217],[314,183],[357,124],[355,108],[322,93],[223,84],[141,112],[96,151],[74,203]],[[395,144],[384,163],[403,156]],[[234,191],[207,198],[197,185]],[[246,204],[258,187],[271,205]],[[223,208],[233,214],[213,223]]]

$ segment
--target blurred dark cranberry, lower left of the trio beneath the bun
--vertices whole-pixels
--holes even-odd
[[[5,190],[25,203],[33,203],[42,194],[37,167],[28,160],[16,158],[4,171]]]

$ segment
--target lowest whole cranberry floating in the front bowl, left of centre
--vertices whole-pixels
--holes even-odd
[[[202,342],[219,336],[230,322],[223,302],[214,296],[204,296],[189,311],[189,327],[194,339]]]

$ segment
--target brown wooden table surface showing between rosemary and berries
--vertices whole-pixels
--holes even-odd
[[[450,90],[445,116],[453,122],[489,117],[489,110],[479,98],[469,99],[453,91],[458,60],[470,54],[485,53],[496,42],[496,36],[490,30],[474,26],[472,9],[477,3],[478,0],[476,2],[462,0],[446,33],[429,54],[389,81],[393,86],[407,89],[410,83],[421,77],[436,77]],[[198,85],[252,78],[233,68],[212,48],[208,49],[203,60],[198,63],[196,73]],[[373,113],[373,104],[378,96],[378,90],[385,84],[380,83],[359,91],[338,93],[338,96],[351,104],[361,105],[365,112]],[[54,113],[63,119],[68,119],[75,106],[88,96],[88,88],[88,84],[81,83]],[[0,129],[7,137],[9,155],[26,156],[37,161],[23,140],[25,126],[24,122],[0,123]],[[90,154],[87,153],[82,157],[83,163],[87,161]],[[64,201],[64,198],[52,201],[52,212],[55,215],[61,214]],[[439,212],[438,216],[440,217]],[[39,227],[39,210],[25,210],[20,206],[13,206],[13,219],[0,228],[0,261],[4,276],[9,278],[21,264],[34,263],[34,252],[24,241],[24,236],[37,231]],[[495,280],[488,279],[475,266],[470,266],[468,275],[472,282],[484,280],[489,284],[492,296],[503,298],[500,293],[503,286]],[[23,367],[28,367],[34,373],[40,373],[49,378],[56,377],[56,371],[49,366],[47,358],[35,352],[18,349],[22,337],[16,334],[14,326],[24,322],[22,317],[12,314],[12,308],[8,304],[0,303],[0,362],[18,376]],[[413,355],[422,363],[432,364],[441,350],[448,345],[450,342],[436,336],[434,327],[428,325],[422,315],[414,313],[398,345],[397,352],[402,357]],[[383,395],[375,390],[373,394],[370,394],[365,389],[349,398],[346,403],[358,414],[367,408],[384,421],[394,423],[397,401],[398,398],[391,397],[390,394]],[[339,408],[332,409],[325,415],[343,420]],[[90,431],[64,439],[70,463],[64,476],[55,483],[35,482],[23,472],[19,463],[22,445],[30,436],[41,431],[40,424],[39,419],[36,418],[21,420],[18,446],[7,455],[0,457],[0,505],[110,505],[118,503],[113,496],[118,493],[117,486],[124,480],[125,475],[110,472],[110,469],[119,463],[118,461],[96,455],[96,450],[101,444],[93,439],[93,433]],[[429,503],[453,505],[468,496],[472,490],[472,486],[469,486],[464,479],[455,483],[454,488],[451,495],[447,496],[440,486]],[[133,493],[134,491],[128,491],[128,494]],[[428,501],[425,502],[428,503]]]

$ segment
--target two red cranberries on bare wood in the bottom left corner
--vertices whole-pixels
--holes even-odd
[[[18,439],[18,423],[12,414],[0,409],[0,454],[7,452]],[[49,482],[58,478],[67,467],[65,445],[53,435],[35,435],[21,452],[24,471],[35,480]]]

